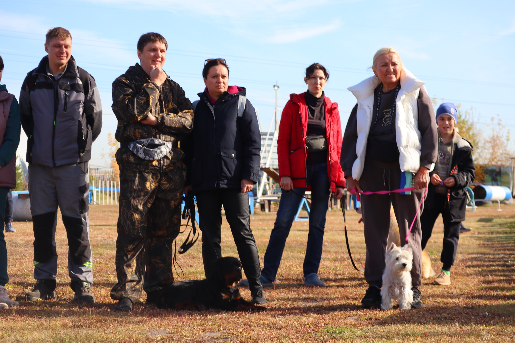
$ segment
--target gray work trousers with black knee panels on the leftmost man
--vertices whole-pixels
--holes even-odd
[[[47,167],[29,165],[30,212],[34,229],[34,278],[57,274],[57,208],[68,238],[68,275],[93,283],[90,246],[88,163]]]

